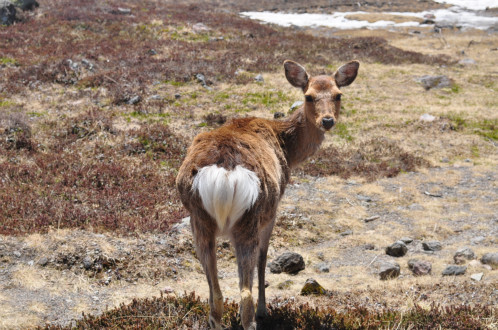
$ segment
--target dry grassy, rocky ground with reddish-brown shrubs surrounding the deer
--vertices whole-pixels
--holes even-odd
[[[408,6],[328,3],[306,10]],[[166,307],[195,305],[193,291],[205,301],[176,169],[199,132],[292,111],[301,95],[285,58],[312,73],[352,58],[361,67],[340,123],[280,205],[269,261],[298,255],[267,269],[275,319],[288,304],[358,315],[438,304],[488,308],[468,309],[461,326],[496,328],[495,32],[284,29],[237,14],[303,10],[292,1],[69,5],[16,7],[19,20],[0,27],[0,328],[90,327],[83,314],[117,320],[120,304],[161,294],[177,299]],[[221,239],[218,268],[231,304],[238,276]],[[225,324],[237,328],[229,306]],[[194,323],[150,324],[206,327],[191,310],[179,318]]]

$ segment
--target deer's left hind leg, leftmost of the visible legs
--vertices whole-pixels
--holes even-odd
[[[222,329],[223,295],[218,282],[216,265],[216,236],[214,231],[201,227],[203,220],[191,215],[192,233],[194,235],[197,257],[202,264],[209,285],[209,326],[212,329]]]

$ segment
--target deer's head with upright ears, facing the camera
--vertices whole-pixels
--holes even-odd
[[[285,76],[294,87],[304,92],[306,119],[322,130],[330,130],[339,119],[341,90],[351,84],[358,73],[360,63],[351,61],[341,66],[332,76],[311,77],[300,64],[285,61]]]

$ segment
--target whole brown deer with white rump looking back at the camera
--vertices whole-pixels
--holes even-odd
[[[176,185],[190,212],[192,233],[209,284],[209,325],[221,329],[223,296],[218,283],[216,237],[230,239],[237,257],[244,329],[255,329],[252,284],[258,266],[256,317],[266,315],[265,268],[278,203],[290,170],[311,156],[339,117],[342,86],[351,84],[359,62],[332,76],[311,77],[285,61],[285,76],[303,90],[305,103],[288,119],[234,119],[195,137]]]

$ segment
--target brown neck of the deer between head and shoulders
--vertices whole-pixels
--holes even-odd
[[[277,134],[290,168],[313,155],[324,139],[324,132],[306,118],[303,107],[282,122]]]

